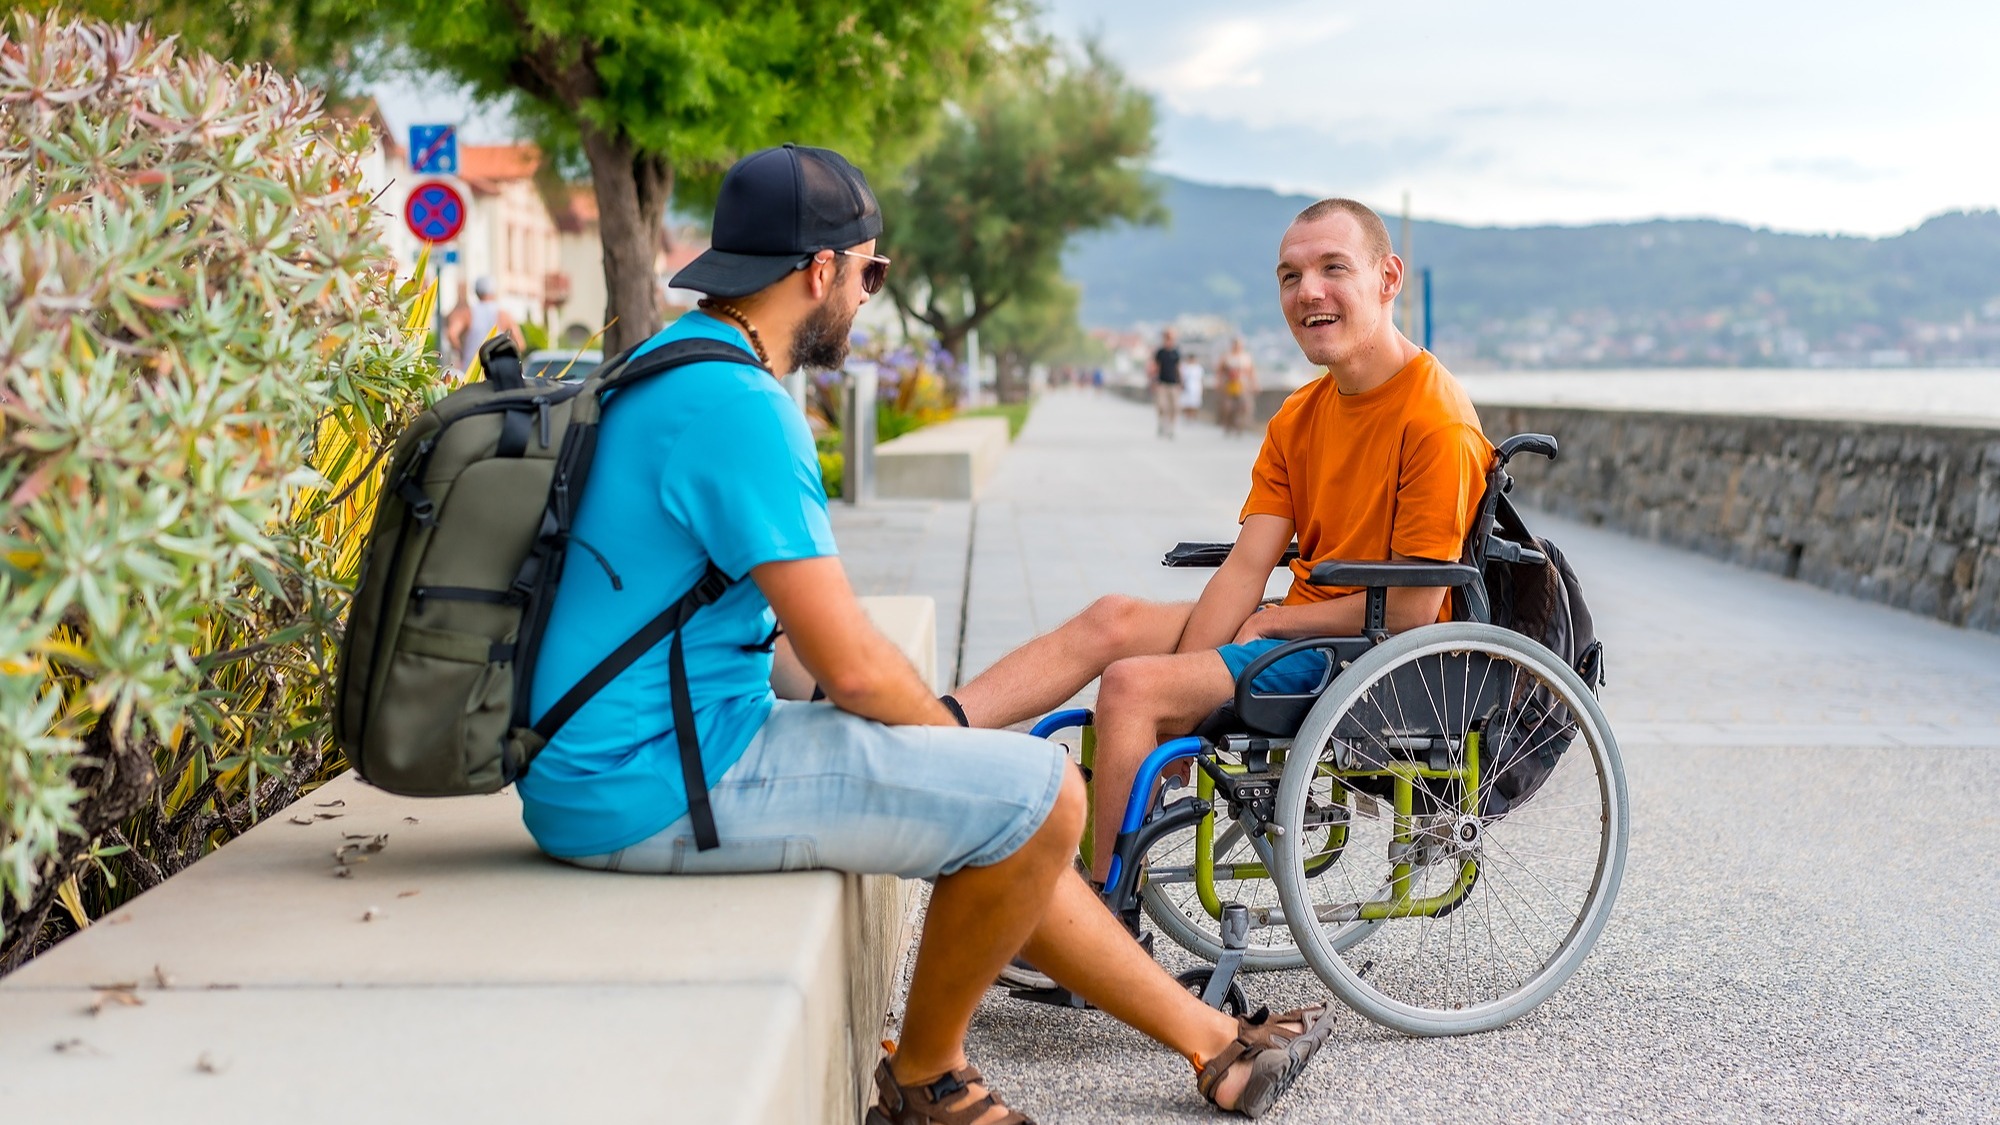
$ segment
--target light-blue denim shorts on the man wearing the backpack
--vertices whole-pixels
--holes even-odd
[[[826,703],[778,701],[744,757],[708,789],[722,847],[696,851],[682,817],[604,855],[598,871],[804,871],[934,879],[988,867],[1056,807],[1070,759],[1012,731],[884,727]]]

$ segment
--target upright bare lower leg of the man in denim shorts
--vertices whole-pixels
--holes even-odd
[[[902,1043],[890,1059],[898,1083],[930,1081],[966,1065],[972,1011],[1000,967],[1042,925],[1058,879],[1074,881],[1070,857],[1082,833],[1084,781],[1068,771],[1056,807],[1026,845],[992,867],[966,867],[932,887]]]

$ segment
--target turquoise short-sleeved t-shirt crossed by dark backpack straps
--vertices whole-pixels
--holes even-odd
[[[646,342],[742,332],[690,312]],[[776,619],[750,569],[834,554],[812,430],[784,386],[748,364],[702,362],[614,392],[534,669],[540,719],[598,661],[672,605],[710,558],[738,579],[682,629],[688,691],[714,783],[770,715]],[[520,781],[522,819],[550,855],[634,845],[688,811],[668,695],[668,641],[590,699]],[[726,831],[726,829],[724,829]]]

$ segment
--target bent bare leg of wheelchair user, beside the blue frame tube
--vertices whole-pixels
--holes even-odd
[[[1110,873],[1112,845],[1124,821],[1138,767],[1160,743],[1192,731],[1230,701],[1236,681],[1214,651],[1172,657],[1128,657],[1104,669],[1098,687],[1096,833],[1090,877]],[[1046,969],[1044,969],[1046,971]]]

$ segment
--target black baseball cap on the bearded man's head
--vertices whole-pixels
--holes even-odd
[[[780,144],[722,176],[708,250],[674,274],[674,288],[748,296],[820,250],[882,234],[882,208],[860,168],[832,148]]]

